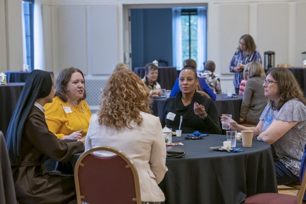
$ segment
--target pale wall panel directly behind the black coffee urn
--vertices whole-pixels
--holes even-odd
[[[256,45],[261,57],[271,50],[275,52],[275,66],[288,63],[288,4],[259,4],[257,12]]]

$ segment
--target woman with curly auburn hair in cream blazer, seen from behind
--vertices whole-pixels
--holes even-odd
[[[110,146],[127,154],[139,175],[143,203],[162,203],[165,196],[158,184],[167,171],[166,145],[159,118],[150,114],[151,101],[149,89],[134,72],[114,72],[103,90],[100,110],[90,119],[85,151]]]

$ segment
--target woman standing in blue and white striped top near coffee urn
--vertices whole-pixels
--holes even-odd
[[[256,50],[256,44],[251,35],[245,34],[240,37],[237,50],[230,62],[230,72],[235,72],[233,84],[236,94],[239,92],[239,85],[243,79],[244,66],[252,61],[258,61],[262,64],[260,54]]]

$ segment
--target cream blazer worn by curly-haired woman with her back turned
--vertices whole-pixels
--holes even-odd
[[[162,202],[165,196],[158,184],[164,178],[166,171],[166,145],[159,117],[140,112],[143,122],[140,126],[132,123],[132,129],[127,127],[117,130],[99,124],[98,115],[90,119],[85,139],[85,151],[96,146],[110,146],[124,152],[136,166],[141,201]],[[99,156],[111,156],[113,153],[97,152]]]

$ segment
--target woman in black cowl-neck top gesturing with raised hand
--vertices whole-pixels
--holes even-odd
[[[162,107],[160,122],[162,127],[178,130],[180,117],[182,133],[221,134],[217,108],[212,99],[196,92],[199,83],[196,71],[191,67],[182,69],[179,76],[180,92],[175,97],[167,98]]]

